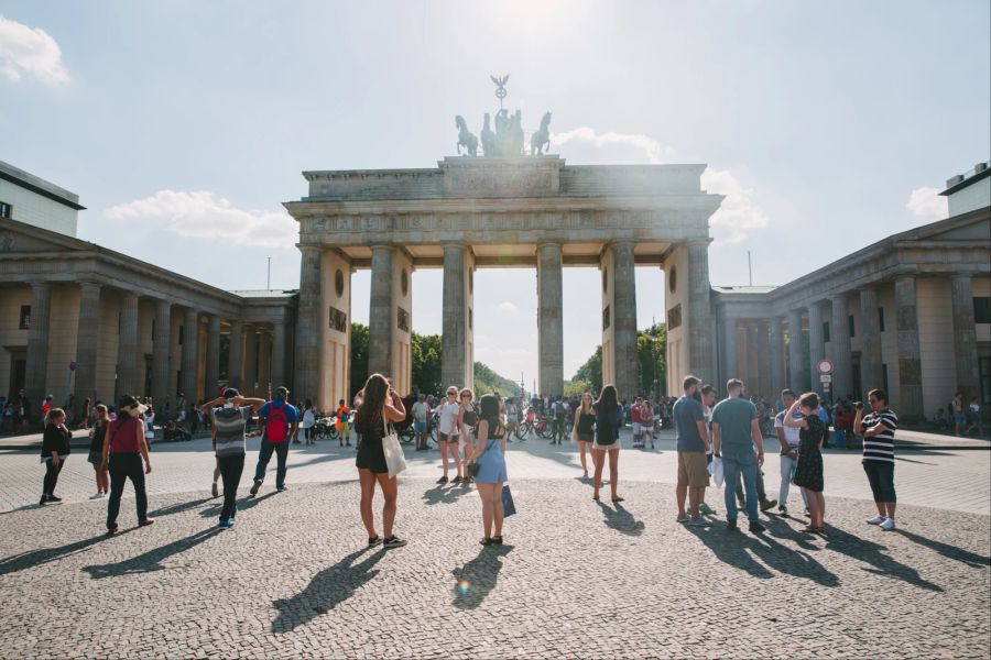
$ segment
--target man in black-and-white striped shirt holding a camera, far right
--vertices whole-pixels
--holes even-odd
[[[871,483],[878,515],[867,519],[868,525],[876,525],[885,531],[894,529],[896,496],[894,491],[894,432],[899,428],[899,417],[887,407],[887,395],[883,389],[868,393],[871,413],[863,416],[863,404],[857,404],[853,428],[863,436],[863,471]]]

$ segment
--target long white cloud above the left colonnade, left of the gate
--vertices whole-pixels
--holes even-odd
[[[172,233],[194,239],[232,239],[239,245],[292,248],[300,227],[284,211],[239,209],[207,190],[160,190],[144,199],[117,205],[111,220],[152,220]]]

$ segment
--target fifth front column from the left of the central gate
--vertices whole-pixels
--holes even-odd
[[[636,280],[633,243],[610,243],[602,253],[602,384],[613,383],[620,399],[640,393],[636,358]],[[676,378],[680,381],[680,377]]]

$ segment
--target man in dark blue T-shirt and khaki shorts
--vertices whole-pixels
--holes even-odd
[[[674,406],[675,429],[678,433],[678,483],[675,490],[678,522],[694,526],[706,524],[698,507],[705,499],[706,487],[709,485],[709,470],[706,463],[709,433],[701,404],[695,398],[699,383],[695,376],[685,376],[682,383],[685,394]],[[640,406],[634,404],[633,409],[639,408]],[[685,513],[686,496],[690,516]]]

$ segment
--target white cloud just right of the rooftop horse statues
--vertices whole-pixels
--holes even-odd
[[[564,133],[552,133],[551,144],[562,156],[580,165],[638,165],[669,163],[675,151],[638,133],[598,133],[582,127]]]

